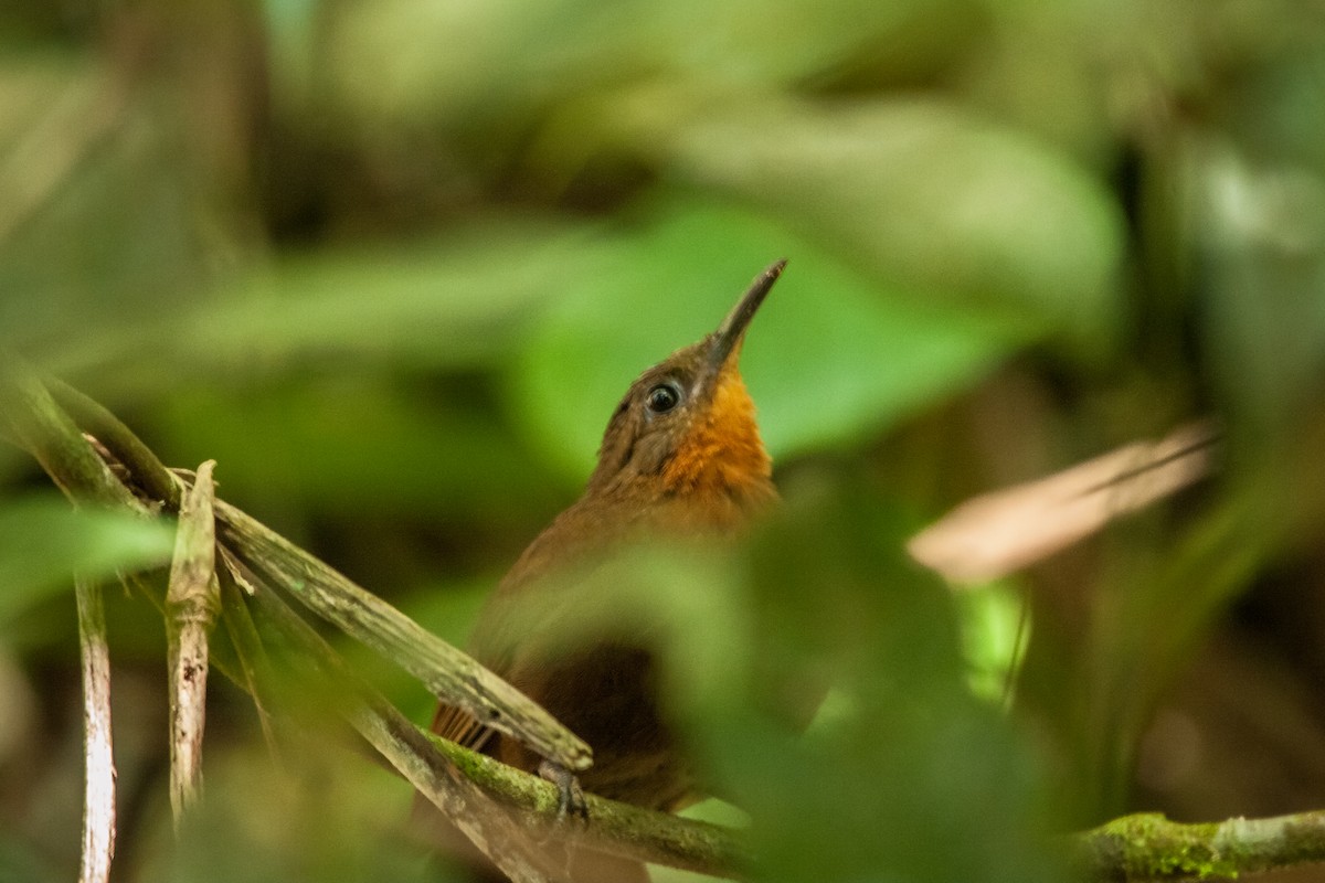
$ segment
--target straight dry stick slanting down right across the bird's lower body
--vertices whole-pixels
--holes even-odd
[[[542,706],[375,594],[241,510],[216,502],[221,540],[258,573],[323,620],[398,662],[435,695],[460,704],[568,769],[587,769],[592,752]]]

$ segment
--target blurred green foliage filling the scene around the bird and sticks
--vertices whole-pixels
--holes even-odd
[[[0,348],[166,462],[217,458],[223,496],[458,641],[629,380],[790,258],[742,360],[786,512],[647,581],[680,624],[674,712],[765,879],[1048,879],[1043,833],[1128,808],[1325,805],[1304,699],[1325,675],[1322,12],[20,0]],[[951,601],[902,539],[1211,412],[1218,482],[999,588],[1032,635],[999,716],[1019,605]],[[77,855],[70,575],[170,548],[40,481],[0,446],[7,879]],[[156,720],[158,643],[114,633],[150,617],[111,608],[113,647],[139,649],[117,725]],[[804,674],[833,690],[799,736],[772,694]],[[1227,725],[1249,695],[1271,696],[1255,725]],[[384,833],[390,781],[317,741],[294,752],[313,773],[264,760],[245,700],[216,706],[216,797],[180,846],[164,733],[123,728],[125,879],[363,879],[384,855],[428,879]],[[262,815],[307,822],[326,793],[323,830]]]

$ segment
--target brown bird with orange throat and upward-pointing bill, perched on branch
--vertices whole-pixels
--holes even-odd
[[[472,654],[594,749],[594,767],[579,784],[595,794],[666,812],[700,797],[659,712],[653,661],[636,646],[643,642],[610,638],[566,651],[541,633],[542,613],[574,618],[568,584],[623,543],[730,535],[776,500],[737,363],[746,328],[784,265],[759,274],[717,331],[631,384],[603,433],[583,496],[525,549],[474,626]],[[559,596],[572,609],[558,609]],[[539,618],[519,616],[530,601]],[[568,773],[458,708],[439,708],[433,729],[554,778],[563,808],[572,800]]]

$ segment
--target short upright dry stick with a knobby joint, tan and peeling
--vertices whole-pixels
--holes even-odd
[[[203,729],[207,720],[207,639],[221,609],[216,581],[216,520],[212,470],[197,467],[184,494],[175,537],[166,622],[170,642],[170,805],[179,829],[203,788]]]

